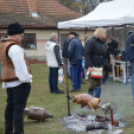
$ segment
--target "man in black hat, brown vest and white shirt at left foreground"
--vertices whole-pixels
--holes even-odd
[[[8,38],[0,44],[2,88],[7,89],[5,134],[24,134],[23,111],[31,90],[32,72],[20,45],[24,29],[19,23],[10,24],[7,34]]]

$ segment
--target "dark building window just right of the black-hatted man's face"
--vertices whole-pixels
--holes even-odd
[[[25,33],[24,40],[21,43],[24,49],[35,50],[36,47],[36,34],[35,33]]]

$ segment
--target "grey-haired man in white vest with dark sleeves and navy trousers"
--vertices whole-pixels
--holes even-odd
[[[64,91],[58,89],[58,69],[62,68],[62,61],[59,52],[59,45],[57,44],[57,34],[52,33],[50,39],[45,45],[47,65],[50,69],[49,85],[50,93],[63,94]]]

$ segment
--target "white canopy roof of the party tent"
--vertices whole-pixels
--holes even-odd
[[[99,4],[79,19],[58,23],[59,29],[115,26],[134,23],[134,0],[113,0]]]

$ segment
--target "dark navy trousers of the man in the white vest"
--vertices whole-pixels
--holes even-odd
[[[51,68],[49,73],[49,85],[50,85],[50,92],[57,92],[58,89],[58,69],[59,68]]]

